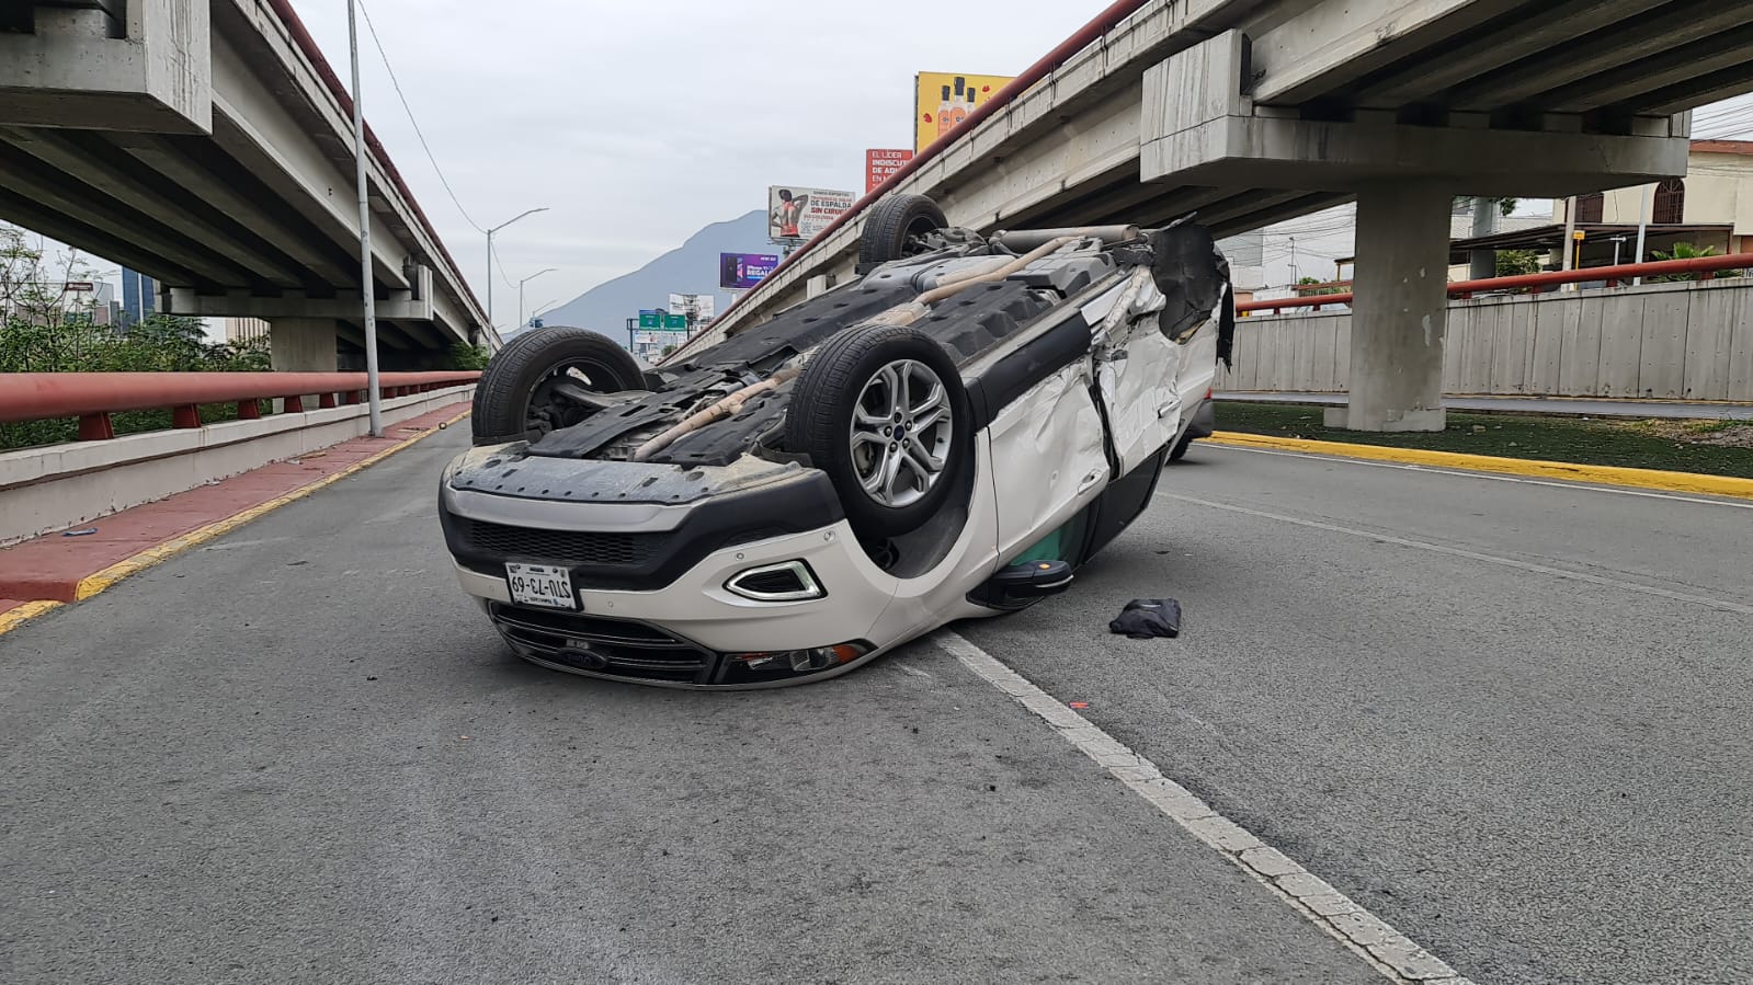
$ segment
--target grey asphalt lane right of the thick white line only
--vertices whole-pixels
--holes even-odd
[[[1196,443],[962,634],[1480,983],[1746,983],[1749,549],[1746,505]],[[1138,594],[1183,636],[1106,636]]]

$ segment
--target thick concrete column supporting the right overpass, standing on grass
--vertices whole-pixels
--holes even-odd
[[[1451,193],[1395,182],[1357,196],[1352,398],[1329,428],[1441,431]]]

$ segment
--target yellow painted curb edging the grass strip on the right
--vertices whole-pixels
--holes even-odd
[[[1429,464],[1436,468],[1464,468],[1473,471],[1495,471],[1502,475],[1529,475],[1539,478],[1562,478],[1567,482],[1595,482],[1600,485],[1630,485],[1636,489],[1662,489],[1665,492],[1699,492],[1704,496],[1753,500],[1753,478],[1735,478],[1730,475],[1700,475],[1695,471],[1662,471],[1655,468],[1622,468],[1613,464],[1576,464],[1569,461],[1469,456],[1464,452],[1432,452],[1425,449],[1395,449],[1387,445],[1315,442],[1309,438],[1274,438],[1269,435],[1245,435],[1239,431],[1218,431],[1208,440],[1211,443],[1234,445],[1241,449],[1278,449],[1320,456],[1397,461],[1408,464]]]

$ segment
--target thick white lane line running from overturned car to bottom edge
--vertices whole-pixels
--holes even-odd
[[[933,641],[962,666],[985,678],[987,684],[1034,712],[1083,755],[1108,769],[1115,780],[1131,787],[1189,834],[1259,880],[1273,896],[1288,903],[1306,920],[1362,957],[1388,980],[1471,985],[1443,959],[1418,946],[1406,934],[1353,903],[1283,852],[1267,847],[1248,829],[1211,810],[1192,790],[1164,776],[1155,762],[1132,752],[1094,722],[1036,687],[1029,678],[1010,670],[997,657],[948,629],[940,629]]]

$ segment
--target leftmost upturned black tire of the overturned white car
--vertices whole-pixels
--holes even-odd
[[[607,335],[570,326],[526,331],[493,356],[475,384],[475,443],[533,442],[584,421],[591,408],[550,393],[564,375],[598,393],[645,387],[638,361]]]

